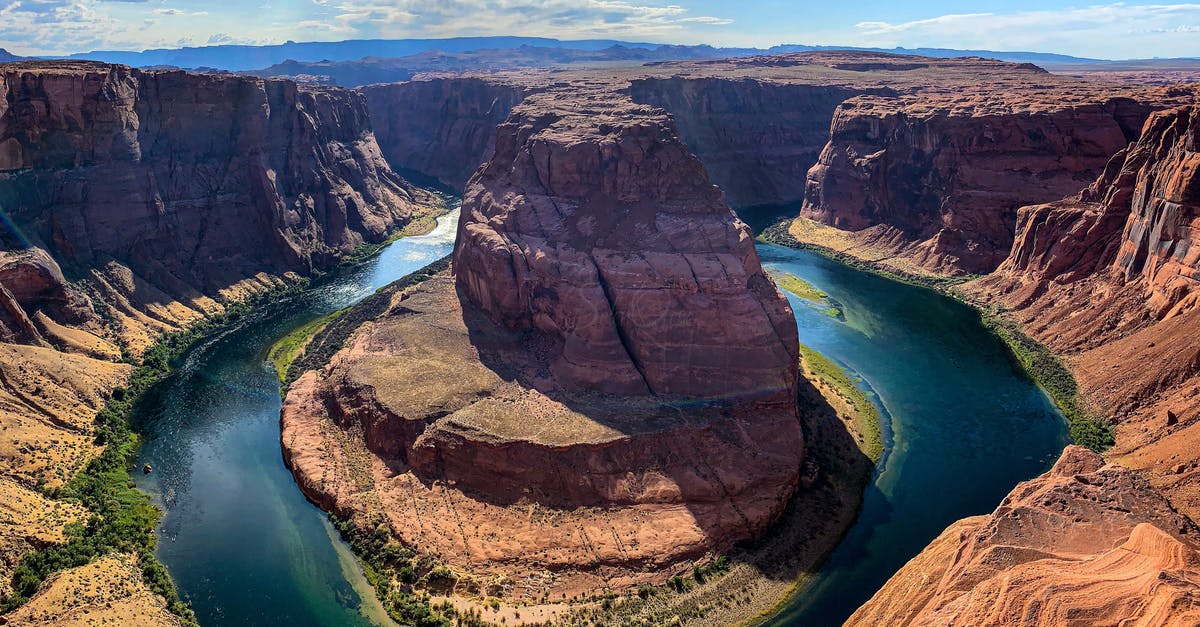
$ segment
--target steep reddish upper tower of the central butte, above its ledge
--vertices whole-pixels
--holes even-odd
[[[791,310],[670,119],[534,98],[463,197],[464,295],[553,336],[554,374],[580,389],[794,392]]]

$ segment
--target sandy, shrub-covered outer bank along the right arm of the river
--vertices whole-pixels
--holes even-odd
[[[864,256],[864,250],[851,246],[851,240],[844,233],[811,220],[785,219],[763,229],[758,239],[778,246],[806,250],[856,270],[931,289],[973,307],[984,327],[1008,347],[1013,363],[1037,383],[1062,412],[1074,443],[1097,453],[1103,453],[1114,446],[1112,420],[1097,411],[1093,404],[1080,394],[1075,376],[1062,357],[1025,334],[1019,324],[1004,316],[1003,311],[979,303],[955,288],[978,276],[938,275],[914,264],[893,263],[892,257],[886,253]],[[839,243],[846,245],[840,246]],[[870,249],[865,251],[870,252]]]

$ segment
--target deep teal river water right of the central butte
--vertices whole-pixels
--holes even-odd
[[[840,625],[950,522],[991,512],[1049,468],[1067,430],[966,305],[806,251],[761,244],[758,255],[768,271],[799,276],[841,306],[844,321],[788,295],[800,342],[862,377],[890,420],[858,520],[769,621]]]

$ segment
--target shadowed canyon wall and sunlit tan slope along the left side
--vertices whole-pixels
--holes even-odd
[[[88,515],[40,490],[98,453],[92,420],[128,380],[122,356],[382,241],[422,195],[383,160],[353,92],[0,66],[0,485],[5,525],[23,530],[0,549],[0,591]],[[47,595],[22,620],[53,622]]]

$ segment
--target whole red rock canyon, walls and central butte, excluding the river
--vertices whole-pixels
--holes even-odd
[[[814,502],[796,322],[730,210],[773,207],[800,245],[952,279],[1115,420],[1104,458],[1069,448],[852,623],[1198,617],[1194,84],[864,52],[354,91],[83,61],[0,78],[6,585],[88,515],[43,488],[98,454],[126,358],[384,241],[438,203],[425,179],[463,198],[452,265],[310,341],[281,441],[307,497],[451,589],[626,595]],[[46,616],[71,573],[18,611]]]

